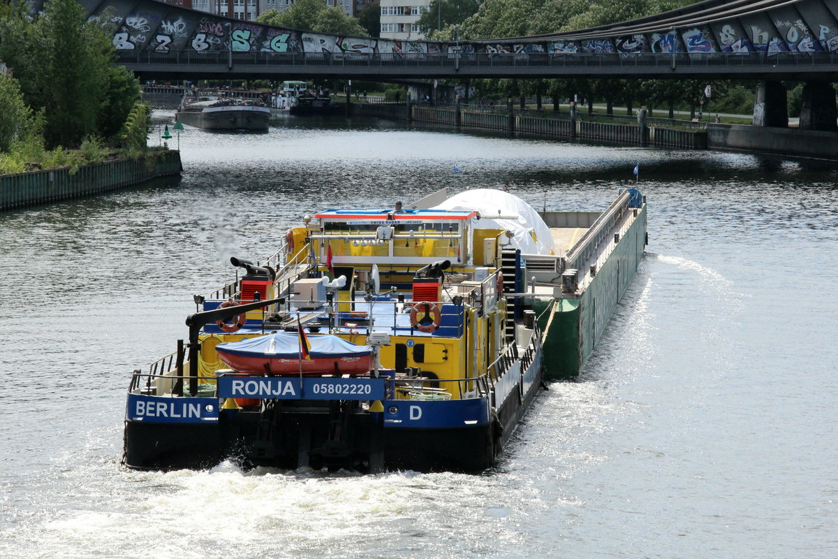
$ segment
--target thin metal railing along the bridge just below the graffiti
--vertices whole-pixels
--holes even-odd
[[[378,66],[378,67],[745,67],[811,66],[838,64],[838,52],[813,53],[517,53],[517,54],[384,54],[384,53],[303,53],[303,52],[226,52],[190,49],[157,52],[136,49],[117,51],[117,60],[126,65],[247,65],[247,66]]]

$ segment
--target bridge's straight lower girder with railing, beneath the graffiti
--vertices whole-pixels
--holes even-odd
[[[463,77],[656,77],[750,75],[773,79],[827,75],[838,70],[838,52],[784,53],[307,53],[195,52],[194,50],[117,51],[117,62],[137,73],[178,77],[226,75],[358,75]]]

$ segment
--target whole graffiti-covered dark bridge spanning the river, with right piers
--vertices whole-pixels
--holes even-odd
[[[278,28],[156,0],[79,1],[91,16],[113,13],[118,60],[141,79],[744,78],[762,80],[754,113],[767,126],[787,122],[779,80],[803,80],[804,111],[835,129],[838,0],[705,0],[567,33],[442,43]]]

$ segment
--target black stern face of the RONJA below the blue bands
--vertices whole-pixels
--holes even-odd
[[[370,470],[371,449],[375,437],[369,416],[355,422],[354,436],[344,443],[329,443],[323,437],[312,437],[303,443],[301,433],[326,432],[328,418],[311,421],[285,417],[287,427],[300,427],[298,432],[283,433],[280,444],[256,440],[259,414],[248,414],[244,421],[220,422],[213,425],[171,425],[165,423],[126,422],[125,458],[129,468],[142,470],[212,468],[225,458],[243,465],[294,469],[311,466],[319,469],[353,468]],[[308,427],[303,427],[308,424]],[[449,429],[401,429],[385,432],[383,469],[417,472],[481,472],[494,465],[496,443],[493,425]],[[290,434],[290,436],[288,436]],[[301,444],[302,443],[302,444]],[[303,456],[301,448],[310,454]]]

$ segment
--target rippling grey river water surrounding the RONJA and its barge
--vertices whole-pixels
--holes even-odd
[[[833,166],[371,121],[179,142],[179,182],[0,215],[0,556],[838,556]],[[120,466],[131,370],[175,349],[231,255],[442,187],[601,210],[638,163],[637,277],[496,471]]]

